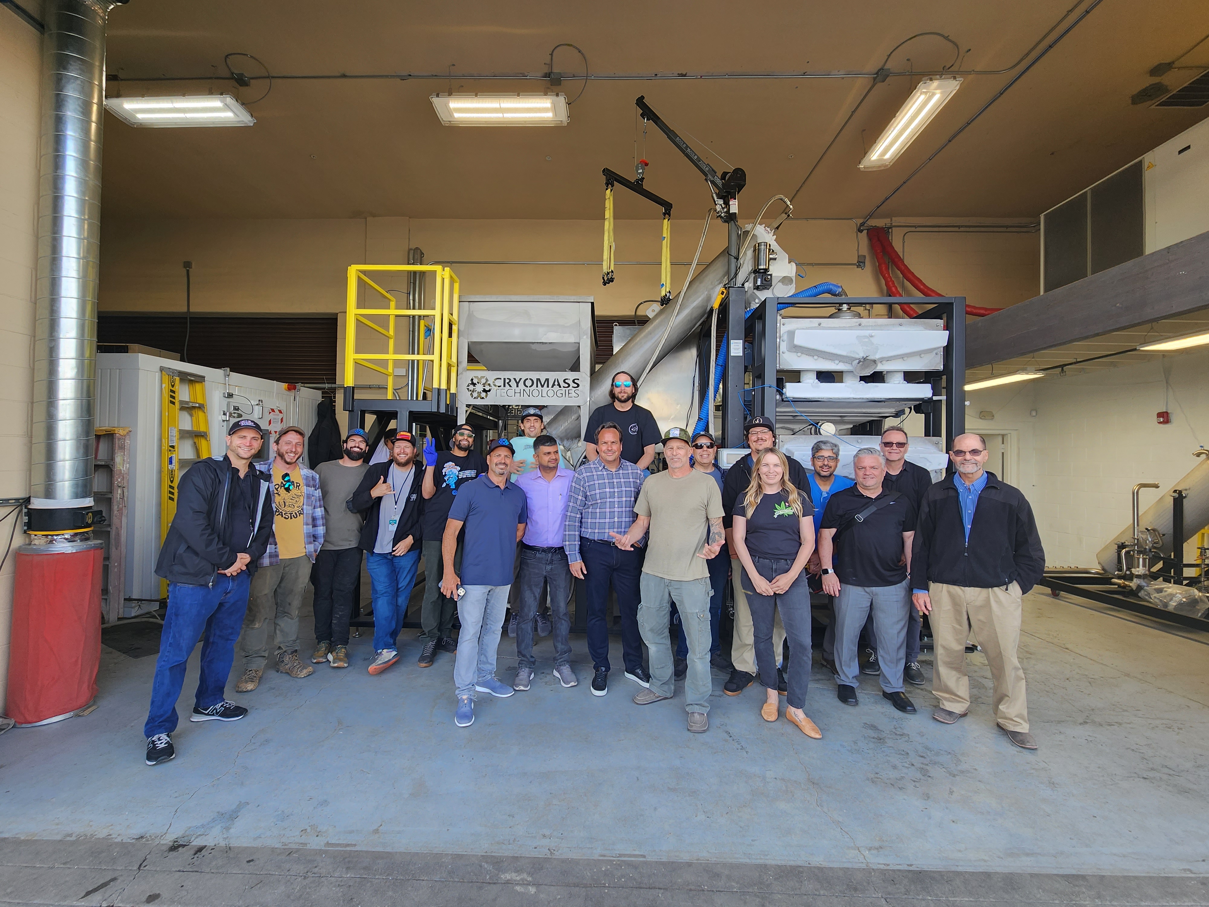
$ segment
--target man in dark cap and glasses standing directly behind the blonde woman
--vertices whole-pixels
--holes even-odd
[[[722,480],[722,525],[727,531],[727,548],[730,550],[730,585],[735,594],[735,628],[733,642],[730,645],[730,663],[733,665],[730,677],[723,684],[722,691],[729,697],[736,697],[751,686],[756,680],[756,646],[752,630],[752,613],[747,608],[747,595],[740,582],[742,568],[739,566],[739,555],[735,554],[734,539],[730,537],[731,514],[735,510],[735,502],[745,493],[752,480],[752,457],[756,454],[769,450],[776,445],[776,426],[771,418],[765,416],[752,416],[744,424],[744,437],[751,454],[740,460],[727,470]],[[797,460],[789,457],[789,481],[802,490],[802,493],[810,492],[810,478],[806,468]],[[785,628],[781,626],[781,614],[775,616],[773,624],[773,651],[781,655],[785,646]]]

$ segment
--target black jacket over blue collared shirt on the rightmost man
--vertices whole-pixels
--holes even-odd
[[[910,567],[912,589],[927,589],[930,580],[971,589],[1016,580],[1026,593],[1045,572],[1046,553],[1028,499],[994,473],[987,473],[987,486],[978,493],[966,544],[961,501],[947,475],[920,502]]]

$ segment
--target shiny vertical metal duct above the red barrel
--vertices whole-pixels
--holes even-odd
[[[91,525],[108,0],[47,0],[30,528]]]

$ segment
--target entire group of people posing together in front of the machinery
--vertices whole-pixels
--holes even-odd
[[[858,705],[860,675],[874,674],[895,709],[916,711],[904,683],[926,682],[918,659],[927,616],[939,700],[933,718],[953,723],[968,710],[965,653],[972,632],[991,669],[999,726],[1016,745],[1036,749],[1016,649],[1020,597],[1040,579],[1045,558],[1028,501],[985,472],[979,435],[954,440],[953,475],[933,484],[907,461],[906,432],[886,429],[880,449],[855,452],[854,483],[837,473],[837,440],[814,444],[808,472],[777,450],[773,421],[757,416],[745,424],[750,454],[722,470],[713,435],[678,427],[660,434],[636,397],[632,375],[613,376],[609,403],[586,426],[586,460],[577,470],[544,433],[536,408],[521,414],[520,438],[491,440],[485,456],[475,451],[475,428],[461,424],[446,451],[406,431],[388,433],[388,456],[366,464],[376,457],[354,428],[343,456],[316,470],[301,463],[301,428],[283,428],[272,461],[253,464],[260,427],[233,422],[226,455],[196,463],[181,478],[160,553],[156,572],[169,582],[169,601],[145,726],[147,764],[175,755],[175,701],[203,631],[195,722],[247,715],[225,699],[226,678],[239,648],[244,670],[236,691],[258,687],[270,628],[277,670],[305,677],[314,664],[348,668],[363,553],[374,611],[369,672],[399,660],[398,637],[423,556],[418,666],[430,666],[440,652],[455,655],[458,727],[474,722],[476,694],[503,698],[531,688],[543,602],[554,636],[553,676],[562,687],[578,684],[568,610],[578,579],[591,693],[609,689],[612,591],[624,675],[640,687],[634,701],[672,699],[683,678],[689,732],[708,729],[715,668],[729,672],[728,695],[759,680],[764,720],[780,717],[785,695],[787,721],[821,738],[804,711],[814,593],[829,602],[822,660],[841,703]],[[647,467],[660,441],[666,469],[652,474]],[[728,577],[729,657],[718,632]],[[310,664],[299,655],[308,580],[316,635]],[[509,606],[517,668],[504,683],[496,677],[496,654]]]

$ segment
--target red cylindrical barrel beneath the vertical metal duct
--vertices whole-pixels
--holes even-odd
[[[93,542],[17,550],[7,712],[18,724],[66,718],[97,695],[103,549]]]

